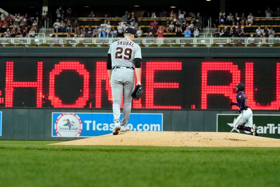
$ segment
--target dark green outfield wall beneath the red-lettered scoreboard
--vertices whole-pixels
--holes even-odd
[[[12,109],[1,108],[2,111],[2,134],[0,140],[74,140],[76,138],[67,137],[52,137],[52,112],[98,112],[98,113],[111,113],[112,110],[100,109],[100,110],[83,110],[83,109]],[[230,110],[132,110],[132,113],[162,113],[163,114],[163,130],[164,131],[217,131],[217,114],[235,114],[237,111]],[[272,115],[265,119],[264,126],[267,124],[275,124],[277,127],[278,118],[274,119],[273,115],[280,115],[280,112],[276,111],[253,111],[254,114]],[[232,129],[227,123],[232,123],[234,117],[227,116],[230,121],[222,122],[222,127],[228,127],[222,129],[222,131],[229,131]],[[278,116],[276,116],[278,117]],[[255,118],[255,117],[254,117]],[[108,123],[111,123],[112,119],[108,119]],[[270,120],[270,121],[269,121]],[[260,120],[258,120],[260,121]],[[257,121],[254,124],[261,125]],[[85,123],[83,122],[83,130],[85,130]],[[269,127],[269,126],[267,126]],[[220,127],[219,127],[220,128]],[[270,128],[272,129],[272,128]],[[237,132],[237,131],[234,131]],[[278,129],[274,129],[269,134],[269,128],[267,128],[267,134],[260,134],[260,136],[268,136],[274,138],[280,138]]]

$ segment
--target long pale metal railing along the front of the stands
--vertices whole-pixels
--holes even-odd
[[[112,44],[122,38],[54,38],[54,37],[37,37],[37,38],[0,38],[1,44]],[[182,38],[135,38],[134,42],[137,44],[234,44],[241,42],[242,44],[274,44],[280,43],[280,38],[224,38],[224,37],[182,37]]]

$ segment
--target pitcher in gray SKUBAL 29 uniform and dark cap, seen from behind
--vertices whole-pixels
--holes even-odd
[[[108,51],[107,70],[113,96],[113,122],[115,124],[113,135],[129,131],[127,122],[131,111],[132,92],[134,90],[134,69],[137,84],[140,85],[141,77],[141,48],[134,43],[135,29],[128,27],[124,32],[124,39],[111,44]],[[122,120],[120,120],[120,105],[123,94]]]

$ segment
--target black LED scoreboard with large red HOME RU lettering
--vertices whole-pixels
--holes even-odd
[[[143,58],[132,108],[230,109],[239,82],[250,108],[279,110],[275,58]],[[106,58],[0,58],[0,107],[111,108]]]

